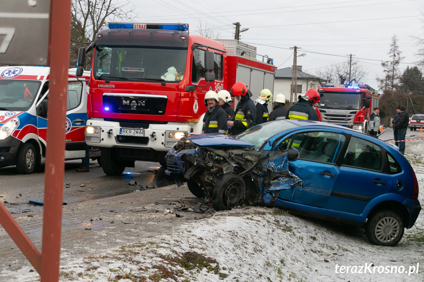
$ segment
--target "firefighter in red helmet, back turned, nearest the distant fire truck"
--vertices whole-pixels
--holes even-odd
[[[288,109],[285,119],[318,121],[318,115],[312,105],[319,102],[319,98],[316,89],[309,89],[305,94],[299,95],[299,102]]]

